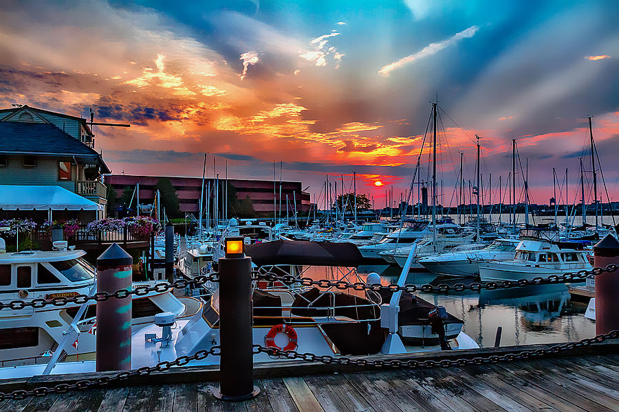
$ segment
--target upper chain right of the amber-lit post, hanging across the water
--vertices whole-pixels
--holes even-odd
[[[534,277],[533,279],[520,279],[520,280],[503,280],[500,282],[473,282],[472,284],[439,284],[439,285],[398,285],[398,284],[365,284],[365,282],[347,282],[345,280],[329,280],[329,279],[320,279],[314,280],[311,277],[295,277],[293,275],[276,275],[274,273],[259,273],[254,272],[252,274],[253,280],[266,280],[268,282],[282,282],[283,284],[300,284],[301,286],[318,286],[320,288],[336,288],[339,290],[373,290],[374,292],[379,292],[380,290],[387,290],[389,292],[398,292],[399,290],[403,290],[406,292],[414,293],[414,292],[423,292],[423,293],[431,293],[431,292],[439,292],[439,293],[447,293],[447,292],[462,292],[464,290],[473,290],[479,291],[482,289],[486,290],[496,290],[496,289],[509,289],[509,288],[521,288],[523,286],[539,286],[539,285],[549,285],[549,284],[561,284],[565,282],[573,282],[575,280],[583,280],[587,277],[593,275],[598,276],[602,273],[613,273],[617,271],[619,266],[617,264],[609,264],[605,268],[593,268],[591,271],[578,271],[576,273],[564,273],[563,275],[550,275],[549,277]]]

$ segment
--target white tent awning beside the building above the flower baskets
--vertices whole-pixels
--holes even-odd
[[[2,210],[98,210],[99,205],[61,186],[0,185]]]

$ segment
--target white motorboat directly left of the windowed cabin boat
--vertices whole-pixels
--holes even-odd
[[[490,244],[475,244],[483,249],[439,253],[421,258],[417,263],[437,276],[478,276],[479,262],[513,259],[519,243],[517,239],[497,239]]]

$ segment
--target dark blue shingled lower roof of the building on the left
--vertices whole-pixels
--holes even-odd
[[[100,163],[103,173],[110,172],[93,148],[53,124],[0,122],[0,153],[85,157]]]

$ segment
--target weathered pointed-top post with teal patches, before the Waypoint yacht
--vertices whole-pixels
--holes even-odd
[[[97,293],[131,290],[133,258],[113,243],[97,258]],[[131,369],[131,296],[97,302],[97,371]]]

